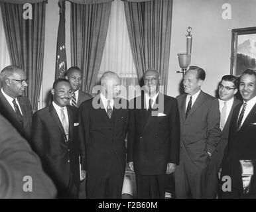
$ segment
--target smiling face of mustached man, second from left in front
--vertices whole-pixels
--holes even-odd
[[[72,97],[72,89],[67,81],[60,81],[55,89],[52,89],[53,101],[60,107],[65,107]]]

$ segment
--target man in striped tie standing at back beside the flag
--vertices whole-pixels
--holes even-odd
[[[82,72],[80,68],[76,66],[70,67],[66,73],[66,79],[70,81],[72,88],[72,98],[70,99],[70,105],[79,107],[83,101],[92,98],[92,95],[80,90],[82,83]]]

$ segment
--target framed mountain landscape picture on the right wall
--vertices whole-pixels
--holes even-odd
[[[230,74],[240,76],[247,68],[256,69],[256,27],[232,30]]]

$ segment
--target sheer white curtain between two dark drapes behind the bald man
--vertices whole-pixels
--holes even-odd
[[[121,78],[121,97],[131,99],[135,97],[133,92],[128,93],[130,85],[139,85],[137,72],[131,53],[131,44],[125,19],[125,9],[122,1],[114,0],[111,5],[109,27],[101,66],[97,81],[107,71],[115,72]],[[126,92],[125,92],[126,91]],[[131,95],[131,96],[129,96]]]

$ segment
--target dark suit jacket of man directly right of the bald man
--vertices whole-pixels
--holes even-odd
[[[179,162],[180,120],[177,101],[159,93],[156,103],[159,107],[155,104],[155,114],[149,116],[144,107],[145,95],[129,103],[127,162],[133,162],[137,174],[165,174],[168,162]],[[157,116],[160,113],[165,116]]]

